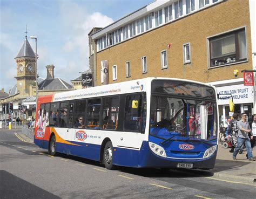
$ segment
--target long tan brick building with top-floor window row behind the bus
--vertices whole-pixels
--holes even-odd
[[[154,1],[91,35],[95,84],[106,84],[104,67],[109,84],[146,77],[211,83],[233,94],[235,112],[250,116],[255,86],[243,85],[241,70],[255,70],[254,7],[251,0]],[[228,101],[219,101],[219,111],[232,114]]]

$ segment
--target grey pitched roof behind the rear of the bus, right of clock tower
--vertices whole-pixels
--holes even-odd
[[[38,84],[39,90],[65,90],[71,88],[73,88],[73,86],[60,78],[45,79]]]

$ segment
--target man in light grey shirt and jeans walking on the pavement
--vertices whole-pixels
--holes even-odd
[[[238,128],[238,138],[237,138],[237,146],[235,147],[234,153],[233,153],[233,160],[237,160],[237,154],[239,152],[239,149],[243,144],[245,144],[248,159],[250,161],[255,161],[255,159],[252,156],[251,141],[248,135],[251,132],[251,127],[249,122],[247,121],[246,113],[241,113],[241,120],[237,122],[237,128]]]

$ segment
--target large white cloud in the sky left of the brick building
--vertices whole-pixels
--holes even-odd
[[[69,35],[68,38],[65,38],[61,49],[67,56],[72,54],[72,61],[67,60],[62,66],[65,71],[58,72],[66,73],[67,69],[71,72],[69,74],[73,74],[73,78],[79,75],[78,72],[89,69],[88,33],[93,27],[105,27],[113,23],[112,18],[100,12],[90,13],[87,11],[89,9],[73,2],[63,2],[60,5],[60,19],[64,25],[62,31]],[[62,76],[62,74],[60,75]]]

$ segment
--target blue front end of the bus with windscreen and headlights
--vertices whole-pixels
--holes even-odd
[[[142,167],[214,167],[218,106],[214,87],[193,81],[153,79],[149,142]],[[141,150],[147,151],[147,150]]]

